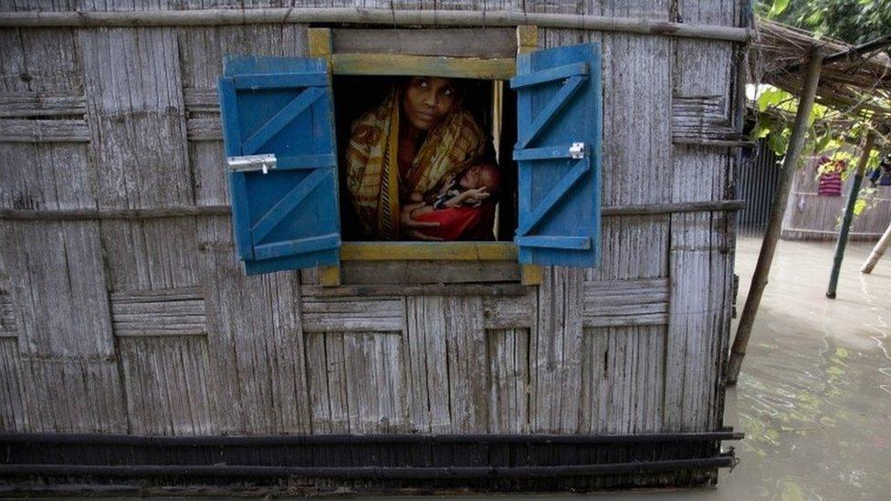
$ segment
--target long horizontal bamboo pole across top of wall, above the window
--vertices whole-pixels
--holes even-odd
[[[512,11],[446,11],[337,8],[192,9],[136,12],[3,12],[0,27],[219,26],[351,23],[382,26],[524,26],[619,31],[665,37],[748,42],[751,30],[633,17]]]

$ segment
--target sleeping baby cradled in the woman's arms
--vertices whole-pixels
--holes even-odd
[[[478,207],[490,195],[498,193],[501,173],[498,167],[487,163],[474,165],[464,172],[446,178],[442,188],[432,198],[424,199],[421,193],[412,193],[409,199],[426,202],[412,211],[412,218],[430,214],[438,209],[452,207]]]

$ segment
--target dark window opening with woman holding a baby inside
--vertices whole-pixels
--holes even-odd
[[[447,113],[437,115],[443,109],[442,94],[423,104],[406,99],[413,87],[454,93]],[[510,152],[517,127],[516,98],[508,85],[464,78],[335,75],[332,89],[345,241],[512,241],[517,168]],[[459,111],[464,112],[460,120],[454,117]],[[393,120],[401,122],[399,134],[387,136],[393,133]],[[393,150],[395,165],[388,157]],[[393,180],[398,188],[389,189]],[[490,194],[477,200],[468,190]],[[398,204],[387,205],[392,194]],[[417,235],[401,225],[396,211],[409,204],[419,206],[412,211],[416,221],[439,222],[440,227],[417,228],[422,234]]]

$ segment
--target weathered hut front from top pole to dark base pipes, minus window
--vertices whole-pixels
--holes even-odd
[[[275,4],[0,7],[0,474],[715,480],[735,436],[721,375],[747,3]],[[600,44],[601,265],[524,270],[508,248],[344,254],[337,287],[326,270],[246,277],[223,57],[482,25],[470,38],[508,58]]]

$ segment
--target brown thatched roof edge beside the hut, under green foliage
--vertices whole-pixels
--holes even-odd
[[[752,83],[770,84],[794,95],[802,92],[801,69],[810,47],[821,47],[827,56],[852,47],[767,20],[759,20],[758,31],[750,57]],[[891,121],[891,58],[879,49],[824,65],[816,100],[835,110],[871,117],[874,124]]]

